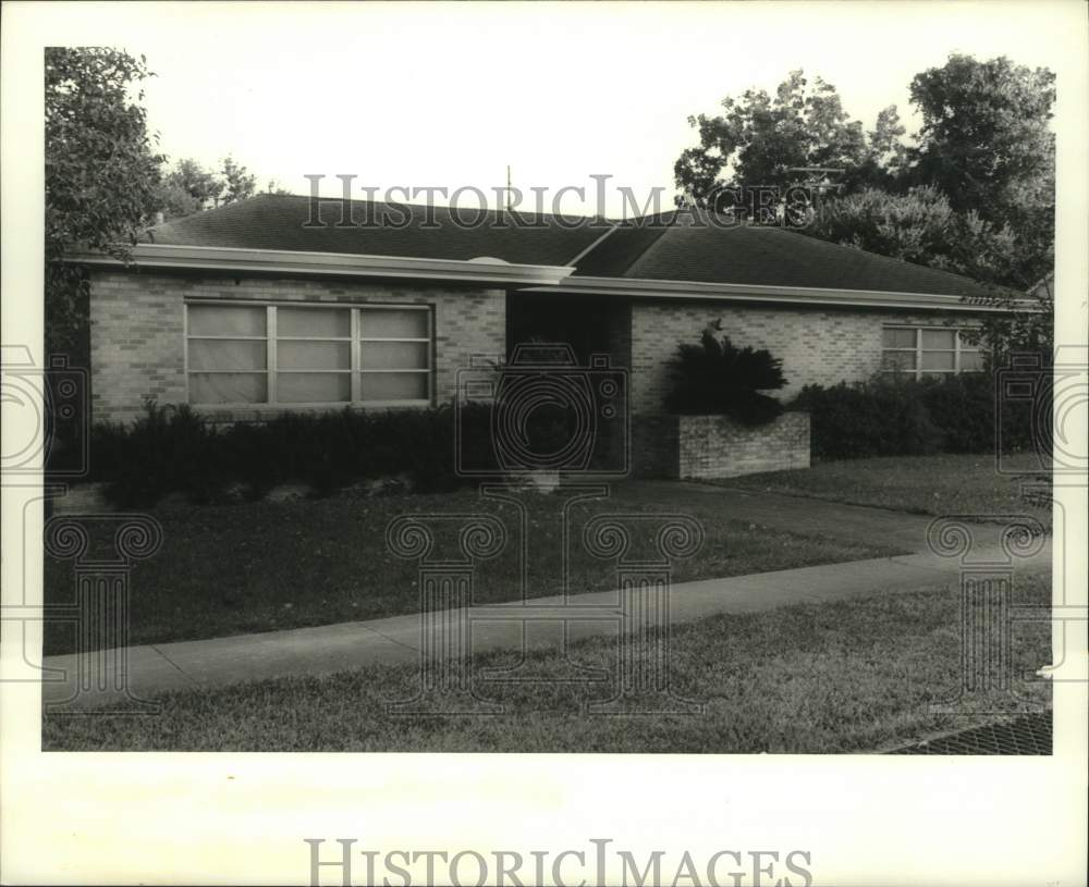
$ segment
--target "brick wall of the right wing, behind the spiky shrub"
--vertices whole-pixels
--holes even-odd
[[[768,348],[783,361],[790,399],[804,385],[861,381],[881,366],[885,323],[941,325],[944,316],[867,309],[818,310],[738,306],[736,303],[636,301],[632,306],[632,412],[664,409],[669,360],[681,342],[696,343],[708,322],[722,319],[722,334],[735,345]]]

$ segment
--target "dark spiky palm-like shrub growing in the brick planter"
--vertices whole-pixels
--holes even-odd
[[[783,411],[774,397],[762,394],[783,387],[782,361],[768,350],[737,348],[729,336],[720,342],[715,321],[703,330],[699,345],[681,344],[670,361],[673,390],[665,398],[671,412],[725,415],[747,426],[772,421]]]

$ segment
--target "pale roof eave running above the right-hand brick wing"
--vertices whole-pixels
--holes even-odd
[[[521,292],[543,292],[525,287]],[[816,286],[778,286],[747,283],[698,283],[694,281],[646,280],[631,278],[567,278],[549,289],[580,295],[628,296],[664,299],[725,299],[737,301],[788,303],[798,305],[843,306],[851,308],[923,308],[943,311],[1004,312],[1000,307],[972,297],[939,293],[896,293],[880,289],[828,289]],[[1033,300],[1016,300],[1015,308],[1038,310]]]

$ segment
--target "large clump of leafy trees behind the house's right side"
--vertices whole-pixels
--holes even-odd
[[[748,90],[724,99],[721,116],[689,118],[699,145],[677,160],[677,185],[722,209],[720,188],[785,188],[805,178],[794,168],[843,169],[839,194],[817,212],[788,202],[786,220],[833,243],[992,284],[984,301],[1007,310],[980,328],[994,353],[1048,347],[1050,287],[1035,284],[1054,267],[1054,75],[953,54],[916,75],[910,95],[922,118],[914,148],[902,141],[895,106],[862,134],[832,86],[818,78],[809,88],[792,72],[774,99]],[[1026,310],[1023,297],[1037,304]]]

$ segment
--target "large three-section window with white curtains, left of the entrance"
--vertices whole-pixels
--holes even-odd
[[[425,306],[186,306],[189,403],[425,405]]]

